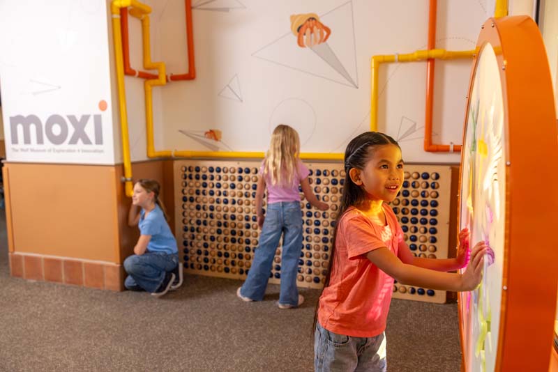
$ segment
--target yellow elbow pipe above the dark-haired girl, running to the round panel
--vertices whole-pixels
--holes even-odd
[[[460,59],[473,57],[476,50],[451,51],[446,49],[430,49],[417,50],[407,54],[387,54],[372,56],[370,69],[372,70],[371,85],[372,93],[370,94],[370,130],[377,132],[378,130],[378,75],[380,63],[392,62],[416,62],[425,61],[426,59]]]

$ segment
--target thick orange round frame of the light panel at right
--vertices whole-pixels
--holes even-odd
[[[486,43],[495,50],[500,66],[508,160],[504,288],[496,371],[548,371],[558,281],[558,250],[552,241],[558,210],[558,194],[552,190],[558,184],[552,79],[541,33],[530,17],[487,20],[478,36],[477,48],[481,50]],[[469,100],[477,63],[478,54],[471,73]],[[466,113],[469,104],[468,101]],[[464,130],[464,136],[465,133]],[[543,192],[536,185],[550,186],[550,190]],[[466,359],[464,346],[468,335],[463,330],[462,301],[459,316]],[[464,361],[462,366],[467,371]]]

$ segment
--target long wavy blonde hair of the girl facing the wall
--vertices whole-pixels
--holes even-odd
[[[277,125],[264,160],[264,176],[270,176],[272,185],[292,185],[293,176],[299,171],[300,149],[301,141],[296,130],[289,125]]]

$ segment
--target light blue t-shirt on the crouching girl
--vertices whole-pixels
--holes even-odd
[[[151,235],[151,240],[147,243],[147,250],[151,252],[164,252],[167,254],[177,254],[176,239],[170,231],[169,224],[163,215],[163,210],[156,204],[155,209],[151,210],[145,217],[145,210],[140,212],[140,233]]]

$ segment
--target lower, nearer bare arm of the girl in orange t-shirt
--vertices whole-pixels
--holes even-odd
[[[463,274],[438,272],[403,263],[386,247],[368,252],[366,258],[401,284],[455,292],[473,290],[478,286],[482,279],[484,255],[487,253],[488,247],[485,243],[478,242],[472,251],[471,262]]]

